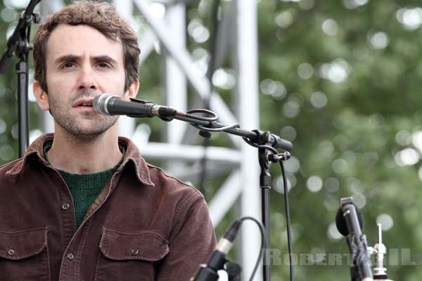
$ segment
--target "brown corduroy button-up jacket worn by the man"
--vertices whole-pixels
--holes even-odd
[[[76,229],[72,195],[37,138],[0,167],[0,280],[184,281],[215,248],[203,196],[147,164],[136,145]],[[72,157],[72,155],[69,155]]]

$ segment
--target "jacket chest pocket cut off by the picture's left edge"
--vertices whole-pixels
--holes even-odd
[[[0,280],[50,280],[47,228],[0,230]]]

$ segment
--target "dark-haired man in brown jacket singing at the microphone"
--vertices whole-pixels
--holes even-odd
[[[147,164],[94,97],[135,97],[136,36],[106,3],[67,6],[34,36],[34,96],[54,118],[0,167],[0,280],[189,280],[215,247],[203,196]]]

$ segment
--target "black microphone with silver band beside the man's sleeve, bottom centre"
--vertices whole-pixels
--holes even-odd
[[[216,281],[219,278],[217,271],[223,269],[224,263],[226,263],[226,254],[230,251],[241,224],[241,220],[231,224],[222,239],[217,243],[217,247],[212,252],[207,264],[200,265],[191,281]]]

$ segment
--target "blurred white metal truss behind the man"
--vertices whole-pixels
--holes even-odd
[[[236,75],[236,87],[233,101],[237,105],[232,112],[229,105],[218,93],[211,93],[210,81],[193,62],[186,48],[186,4],[198,0],[115,0],[117,11],[122,13],[132,25],[139,24],[134,19],[134,10],[139,11],[148,22],[147,30],[139,34],[141,46],[141,64],[153,51],[159,41],[162,61],[165,65],[163,83],[166,105],[177,110],[187,110],[187,84],[190,84],[200,100],[210,98],[210,110],[219,115],[223,124],[240,124],[243,129],[259,129],[258,112],[258,73],[257,73],[257,1],[226,0],[229,8],[222,16],[222,27],[218,38],[219,58],[231,47],[232,68]],[[164,18],[157,18],[151,11],[151,3],[165,5]],[[47,4],[48,3],[48,4]],[[41,1],[41,14],[48,15],[63,6],[63,1]],[[135,28],[136,30],[136,28]],[[141,65],[142,67],[142,65]],[[134,119],[120,117],[120,135],[134,139],[136,127]],[[166,170],[183,181],[193,181],[200,174],[200,166],[186,166],[205,154],[208,159],[207,174],[226,174],[231,171],[226,181],[208,202],[210,216],[217,226],[226,213],[236,207],[238,216],[261,218],[261,194],[259,188],[259,164],[257,150],[244,143],[238,136],[229,136],[234,148],[208,147],[191,145],[189,137],[193,130],[186,123],[174,121],[165,125],[161,143],[136,142],[146,159],[169,160]],[[53,131],[52,119],[44,115],[44,131]],[[136,139],[135,139],[136,141]],[[198,162],[198,161],[196,161]],[[243,278],[250,276],[260,250],[260,233],[252,224],[245,223],[238,237],[238,252],[241,253]],[[262,280],[262,271],[258,270],[254,280]]]

